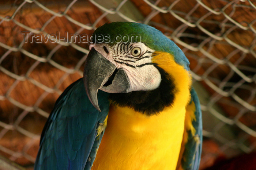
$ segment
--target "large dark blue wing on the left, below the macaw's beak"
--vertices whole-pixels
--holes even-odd
[[[89,101],[82,78],[64,90],[42,131],[35,170],[83,170],[93,163],[89,155],[103,135],[96,138],[97,128],[109,111],[108,93],[99,90],[98,98],[102,112]]]

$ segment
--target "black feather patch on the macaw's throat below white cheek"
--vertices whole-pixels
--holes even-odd
[[[161,74],[162,81],[157,89],[111,93],[110,100],[121,107],[130,107],[148,116],[155,115],[173,104],[176,88],[174,80],[162,68],[154,65]]]

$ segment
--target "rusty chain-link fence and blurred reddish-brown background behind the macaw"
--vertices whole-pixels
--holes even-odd
[[[71,40],[25,43],[24,34],[67,38],[115,21],[161,30],[191,62],[203,112],[200,169],[255,151],[256,1],[1,0],[0,169],[33,169],[46,119],[83,76],[89,52]]]

